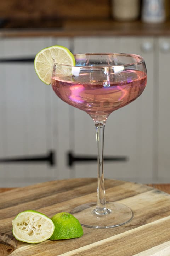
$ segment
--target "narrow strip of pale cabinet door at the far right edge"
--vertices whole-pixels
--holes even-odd
[[[158,135],[158,151],[155,152],[158,164],[159,182],[170,181],[170,38],[162,37],[158,42],[158,58],[155,69],[155,114],[158,115],[154,132]]]

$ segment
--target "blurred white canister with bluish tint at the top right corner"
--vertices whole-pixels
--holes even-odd
[[[142,21],[147,23],[161,23],[165,21],[164,0],[143,0]]]

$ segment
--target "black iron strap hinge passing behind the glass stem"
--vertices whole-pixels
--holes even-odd
[[[69,166],[73,166],[75,162],[94,162],[97,161],[97,156],[82,156],[74,155],[71,151],[67,154],[67,163]],[[116,161],[116,162],[125,162],[128,161],[127,156],[113,156],[113,157],[104,157],[104,161]]]

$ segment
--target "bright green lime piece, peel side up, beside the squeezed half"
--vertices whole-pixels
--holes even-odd
[[[52,218],[55,229],[50,240],[78,238],[83,235],[80,222],[67,212],[57,213]]]

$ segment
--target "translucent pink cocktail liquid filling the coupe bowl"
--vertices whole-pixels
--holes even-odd
[[[114,110],[121,108],[139,97],[146,86],[147,75],[142,71],[126,70],[122,73],[127,81],[111,81],[109,86],[103,82],[85,83],[83,80],[89,74],[82,74],[79,81],[70,81],[70,76],[61,80],[52,77],[52,88],[63,101],[86,111],[94,120],[106,119]],[[97,74],[96,74],[97,76]],[[110,74],[110,78],[114,76]],[[76,80],[76,79],[75,79]]]

